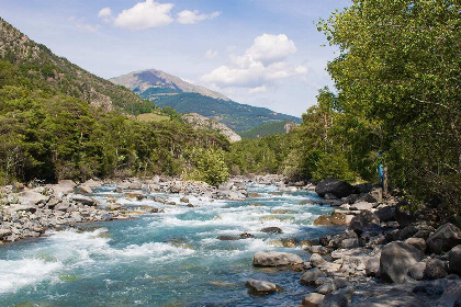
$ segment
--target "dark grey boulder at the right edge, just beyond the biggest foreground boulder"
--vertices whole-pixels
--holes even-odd
[[[426,243],[428,250],[434,253],[449,251],[461,245],[461,230],[450,223],[443,224],[427,239]]]

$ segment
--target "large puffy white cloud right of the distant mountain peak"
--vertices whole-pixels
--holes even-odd
[[[294,76],[304,76],[307,68],[290,66],[284,60],[296,53],[285,34],[263,34],[241,56],[229,56],[229,64],[202,76],[201,81],[217,88],[247,88],[248,93],[268,91],[268,84]]]

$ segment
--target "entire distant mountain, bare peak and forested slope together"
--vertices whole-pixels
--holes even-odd
[[[237,103],[221,93],[193,86],[160,70],[142,70],[110,80],[133,90],[142,99],[150,100],[158,106],[171,106],[179,113],[198,113],[214,118],[235,132],[281,121],[301,123],[299,117]]]

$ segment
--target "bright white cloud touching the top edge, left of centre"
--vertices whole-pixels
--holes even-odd
[[[172,3],[160,4],[154,0],[138,2],[133,8],[123,10],[117,16],[112,16],[112,10],[104,8],[99,11],[98,16],[110,22],[117,27],[127,30],[147,30],[151,27],[165,26],[175,20],[171,16]]]

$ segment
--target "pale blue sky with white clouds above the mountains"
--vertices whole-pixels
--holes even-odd
[[[337,54],[314,24],[348,0],[0,0],[0,16],[102,78],[159,69],[301,116]],[[323,46],[323,45],[327,46]]]

